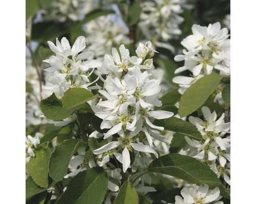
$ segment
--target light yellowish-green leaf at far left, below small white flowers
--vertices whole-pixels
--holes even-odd
[[[48,163],[51,151],[48,148],[38,147],[35,157],[31,157],[28,164],[29,175],[41,188],[48,187]]]

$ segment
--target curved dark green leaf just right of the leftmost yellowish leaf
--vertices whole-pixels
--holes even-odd
[[[49,173],[53,180],[61,181],[63,179],[72,156],[84,144],[76,139],[69,139],[55,147],[49,161]]]

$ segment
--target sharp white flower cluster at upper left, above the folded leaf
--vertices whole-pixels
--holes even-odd
[[[58,88],[59,95],[63,96],[63,93],[69,88],[82,87],[89,89],[88,87],[97,81],[90,82],[88,78],[93,73],[94,68],[101,65],[101,62],[87,60],[93,54],[89,51],[82,52],[86,48],[86,38],[78,37],[72,47],[65,37],[60,42],[56,39],[56,45],[51,41],[48,41],[48,44],[56,56],[44,60],[44,62],[51,65],[45,71],[53,72],[53,75],[49,78],[52,86],[45,86],[45,89],[54,90]]]

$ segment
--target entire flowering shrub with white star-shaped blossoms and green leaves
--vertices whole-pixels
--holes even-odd
[[[230,203],[229,13],[196,4],[31,6],[26,203]]]

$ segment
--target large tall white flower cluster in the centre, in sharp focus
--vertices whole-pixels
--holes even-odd
[[[160,81],[152,79],[152,74],[146,71],[154,68],[151,42],[140,43],[137,56],[130,57],[124,45],[119,51],[121,56],[113,48],[112,56],[105,55],[102,66],[98,68],[101,73],[108,74],[103,90],[99,90],[104,99],[91,107],[102,119],[101,129],[109,129],[104,139],[111,138],[111,141],[93,153],[101,155],[102,161],[108,161],[104,157],[115,156],[125,172],[131,165],[130,152],[152,153],[158,157],[153,138],[164,142],[166,139],[157,132],[164,128],[152,122],[171,117],[173,113],[154,111],[154,107],[161,107],[162,103],[157,98]]]

